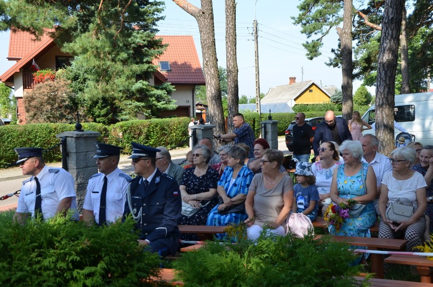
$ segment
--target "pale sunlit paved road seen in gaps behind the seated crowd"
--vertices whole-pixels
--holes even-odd
[[[285,153],[289,153],[286,147],[284,137],[279,137],[279,146],[278,148]],[[188,152],[188,148],[179,148],[175,150],[171,150],[170,154],[172,157],[172,161],[175,164],[181,163],[185,159],[185,154]],[[49,164],[52,167],[61,167],[61,163]],[[128,159],[128,155],[121,156],[119,162],[119,168],[125,172],[126,174],[133,174],[134,168],[131,165],[131,160]],[[22,185],[22,181],[24,181],[29,176],[22,175],[20,168],[13,168],[7,170],[0,170],[0,196],[4,196],[6,194],[10,194],[19,190]],[[13,196],[6,200],[0,201],[0,211],[8,210],[11,208],[15,208],[18,204],[18,197]]]

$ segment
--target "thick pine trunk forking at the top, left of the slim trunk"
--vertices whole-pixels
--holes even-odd
[[[201,0],[200,9],[185,0],[173,0],[173,2],[197,20],[203,55],[204,79],[206,81],[208,104],[206,119],[207,122],[215,125],[214,134],[224,134],[225,124],[218,73],[217,48],[215,47],[212,0]]]

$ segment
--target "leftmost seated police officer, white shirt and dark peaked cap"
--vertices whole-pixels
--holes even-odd
[[[22,174],[32,176],[22,182],[14,220],[23,222],[29,213],[32,217],[48,219],[57,213],[66,214],[68,210],[72,210],[73,218],[78,220],[72,175],[64,169],[46,166],[42,148],[17,147],[14,150]]]

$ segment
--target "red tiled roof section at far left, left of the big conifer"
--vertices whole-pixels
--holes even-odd
[[[48,34],[44,34],[40,40],[35,40],[35,36],[26,31],[11,31],[8,59],[19,60],[36,47],[39,47],[41,43],[45,43],[50,39]]]

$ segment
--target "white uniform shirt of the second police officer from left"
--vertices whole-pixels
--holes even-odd
[[[97,173],[90,177],[87,184],[86,197],[83,208],[93,211],[97,223],[99,223],[99,206],[101,200],[102,186],[104,185],[104,174]],[[107,175],[107,195],[105,218],[107,222],[113,222],[123,215],[127,199],[128,183],[131,177],[119,168]]]

